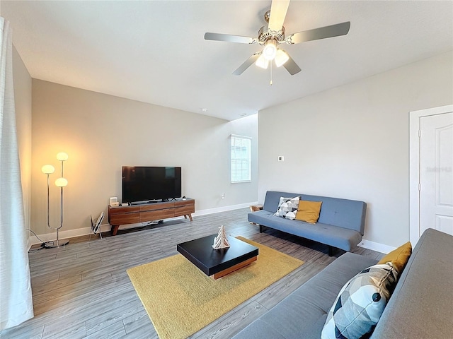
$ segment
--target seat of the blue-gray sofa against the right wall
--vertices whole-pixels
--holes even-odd
[[[299,237],[311,239],[315,242],[334,246],[345,251],[350,251],[362,240],[360,232],[355,230],[327,225],[322,222],[309,224],[308,222],[299,220],[287,220],[285,218],[277,217],[264,209],[248,213],[248,221],[272,227],[275,230],[294,234]]]

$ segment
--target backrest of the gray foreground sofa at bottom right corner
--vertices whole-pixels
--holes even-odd
[[[428,229],[371,338],[453,338],[453,237]]]

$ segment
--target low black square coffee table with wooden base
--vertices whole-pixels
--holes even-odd
[[[234,237],[228,237],[228,242],[231,245],[229,248],[212,249],[214,237],[217,237],[217,234],[183,242],[178,244],[176,249],[197,268],[200,268],[203,273],[213,276],[214,279],[223,277],[256,261],[258,247]]]

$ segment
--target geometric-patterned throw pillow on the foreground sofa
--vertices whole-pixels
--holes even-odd
[[[358,339],[372,332],[379,321],[398,271],[389,264],[374,265],[348,281],[328,312],[322,339]]]

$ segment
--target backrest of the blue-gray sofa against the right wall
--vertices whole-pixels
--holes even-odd
[[[367,204],[363,201],[329,198],[326,196],[309,196],[306,194],[294,194],[280,191],[267,191],[263,210],[275,213],[278,208],[280,196],[300,196],[300,200],[322,201],[323,204],[321,206],[321,213],[319,214],[319,223],[355,230],[363,235],[367,210]]]

